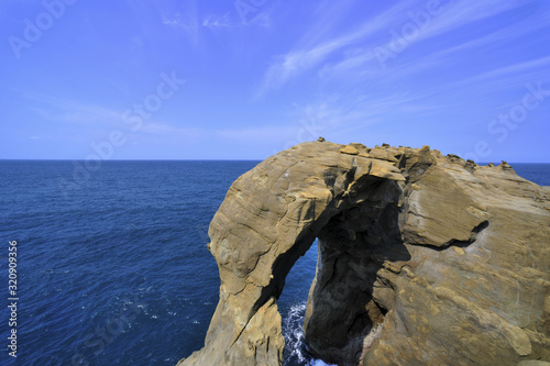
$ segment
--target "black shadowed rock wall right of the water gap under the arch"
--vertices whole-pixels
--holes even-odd
[[[377,273],[386,260],[410,258],[398,224],[399,186],[365,181],[365,200],[334,215],[319,232],[306,341],[315,355],[331,364],[358,365],[364,337],[387,313],[387,306],[373,298]]]

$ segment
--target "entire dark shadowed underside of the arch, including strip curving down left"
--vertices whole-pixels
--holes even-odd
[[[356,193],[336,203],[337,210],[321,212],[290,249],[277,257],[272,286],[265,287],[258,299],[258,303],[268,298],[278,300],[288,273],[318,239],[304,332],[314,356],[341,366],[360,363],[373,340],[369,334],[382,326],[384,315],[394,308],[394,290],[378,277],[380,269],[393,263],[398,271],[397,263],[410,258],[399,229],[399,185],[369,177],[355,189]]]

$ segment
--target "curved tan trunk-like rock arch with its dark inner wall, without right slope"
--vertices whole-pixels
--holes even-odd
[[[304,147],[310,149],[305,156],[292,152]],[[406,259],[398,240],[405,178],[397,160],[358,154],[330,143],[298,145],[231,186],[209,230],[220,302],[204,352],[186,363],[279,365],[277,299],[290,268],[319,237],[306,339],[320,358],[356,364],[356,339],[381,322],[391,303],[388,296],[373,298],[375,274],[385,260]]]

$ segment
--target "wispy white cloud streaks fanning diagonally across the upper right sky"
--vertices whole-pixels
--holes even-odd
[[[428,14],[427,25],[418,30],[418,34],[415,37],[408,40],[407,46],[459,30],[483,19],[532,4],[536,0],[515,0],[508,2],[498,0],[481,2],[466,0],[441,1],[438,13],[431,16]],[[380,65],[373,62],[376,59],[373,49],[375,47],[388,48],[393,42],[389,31],[394,30],[398,33],[404,24],[407,22],[413,23],[411,16],[418,15],[419,12],[427,14],[425,8],[426,1],[416,1],[414,3],[398,2],[380,15],[367,19],[360,27],[329,37],[328,41],[327,37],[321,37],[324,41],[316,42],[318,37],[308,32],[301,37],[295,49],[275,57],[275,62],[264,74],[257,96],[278,89],[289,80],[311,70],[317,70],[321,77],[326,78],[337,75],[338,77],[342,77],[345,74],[356,78],[358,73],[363,76],[381,74]],[[319,7],[319,11],[324,12],[334,11],[333,8],[327,4]],[[548,23],[544,25],[548,25]],[[471,47],[474,43],[477,47],[481,47],[497,40],[506,41],[517,37],[518,33],[527,34],[541,26],[543,25],[540,22],[532,22],[532,19],[531,23],[529,23],[529,20],[525,20],[518,23],[506,24],[502,30],[480,36],[479,41],[469,41],[469,45],[461,45],[461,40],[457,38],[457,43],[452,44],[446,51],[433,49],[433,53],[439,53],[437,56],[443,57],[452,52],[463,51],[464,47]],[[315,30],[316,26],[314,25],[312,29]]]

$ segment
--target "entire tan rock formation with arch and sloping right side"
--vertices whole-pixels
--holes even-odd
[[[506,163],[428,146],[284,151],[241,176],[210,224],[220,301],[179,364],[280,365],[277,299],[316,237],[304,328],[326,362],[548,362],[549,197]]]

